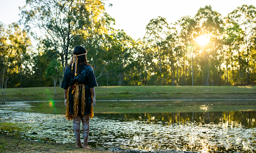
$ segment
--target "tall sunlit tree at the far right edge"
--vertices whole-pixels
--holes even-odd
[[[253,35],[256,33],[256,7],[253,5],[242,5],[229,13],[227,18],[230,23],[237,24],[242,30],[243,46],[241,46],[240,50],[245,52],[248,85],[249,71],[251,69],[250,63],[253,63],[252,48]]]

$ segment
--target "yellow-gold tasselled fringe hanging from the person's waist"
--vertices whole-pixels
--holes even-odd
[[[73,109],[74,109],[74,115],[77,116],[78,114],[78,105],[79,105],[79,94],[81,91],[81,100],[82,100],[82,108],[81,108],[81,114],[84,114],[84,110],[85,110],[85,106],[86,106],[86,102],[85,102],[85,87],[84,85],[74,85],[75,87],[75,90],[73,91],[74,93],[72,93],[74,95],[74,106],[73,106]],[[81,87],[80,87],[81,86]],[[67,117],[67,120],[72,120],[73,119],[73,114],[70,113],[70,107],[69,107],[69,91],[70,91],[70,88],[72,86],[70,86],[69,88],[67,88],[67,104],[66,104],[66,117]],[[82,90],[80,90],[80,88],[82,88]],[[72,90],[72,89],[71,89]],[[93,99],[92,95],[91,95],[91,99]],[[93,114],[93,106],[92,106],[93,103],[91,103],[91,107],[90,107],[90,119],[93,118],[94,114]]]

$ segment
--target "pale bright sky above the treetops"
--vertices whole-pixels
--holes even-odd
[[[18,9],[26,0],[0,0],[0,22],[8,25],[20,19]],[[108,4],[113,4],[108,7]],[[198,9],[206,5],[226,17],[243,4],[256,6],[256,0],[106,0],[106,12],[116,20],[115,29],[123,29],[137,40],[143,38],[145,26],[151,19],[165,17],[175,23],[181,17],[195,16]]]

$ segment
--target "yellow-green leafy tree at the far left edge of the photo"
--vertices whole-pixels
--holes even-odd
[[[30,39],[27,37],[26,31],[21,30],[16,23],[12,23],[8,28],[0,24],[0,80],[2,101],[6,95],[7,86],[21,86],[21,82],[23,81],[22,76],[24,76],[23,68],[25,68],[25,71],[30,71],[26,69],[26,61],[29,60],[28,52],[30,45]],[[5,91],[3,91],[3,88],[5,88]]]

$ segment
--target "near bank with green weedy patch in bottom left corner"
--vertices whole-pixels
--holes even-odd
[[[0,153],[117,153],[108,150],[99,150],[98,148],[84,150],[82,148],[76,148],[75,144],[59,144],[48,141],[47,139],[31,141],[25,139],[29,137],[22,134],[30,128],[28,124],[1,122],[0,120]]]

